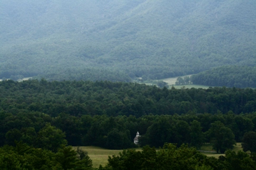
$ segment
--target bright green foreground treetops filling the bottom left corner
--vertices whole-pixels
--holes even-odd
[[[79,156],[78,156],[79,155]],[[92,169],[91,159],[88,155],[75,152],[72,147],[62,147],[54,153],[29,147],[22,142],[16,142],[15,147],[5,145],[0,148],[1,169]]]

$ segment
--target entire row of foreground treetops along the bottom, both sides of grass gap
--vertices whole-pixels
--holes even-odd
[[[3,170],[19,169],[59,169],[59,170],[128,170],[128,169],[181,169],[181,170],[233,170],[256,168],[255,153],[234,152],[228,150],[225,156],[208,157],[198,152],[195,147],[182,144],[164,144],[159,150],[145,146],[141,151],[123,150],[119,155],[108,158],[106,166],[92,168],[87,152],[62,146],[58,152],[30,147],[23,142],[15,146],[0,147],[0,168]]]

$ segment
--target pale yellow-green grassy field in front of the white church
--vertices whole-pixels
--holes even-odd
[[[75,150],[77,147],[73,147]],[[94,168],[98,168],[99,165],[105,166],[108,163],[108,156],[112,155],[118,155],[119,152],[122,152],[122,150],[107,150],[102,147],[80,147],[81,150],[85,150],[88,152],[89,157],[92,160],[92,163],[94,165]],[[136,150],[141,150],[140,148]],[[242,150],[241,143],[237,143],[234,146],[234,151]],[[200,151],[207,155],[207,156],[213,156],[215,158],[218,158],[220,155],[225,154],[217,154],[214,150],[212,150],[211,144],[203,144]]]

